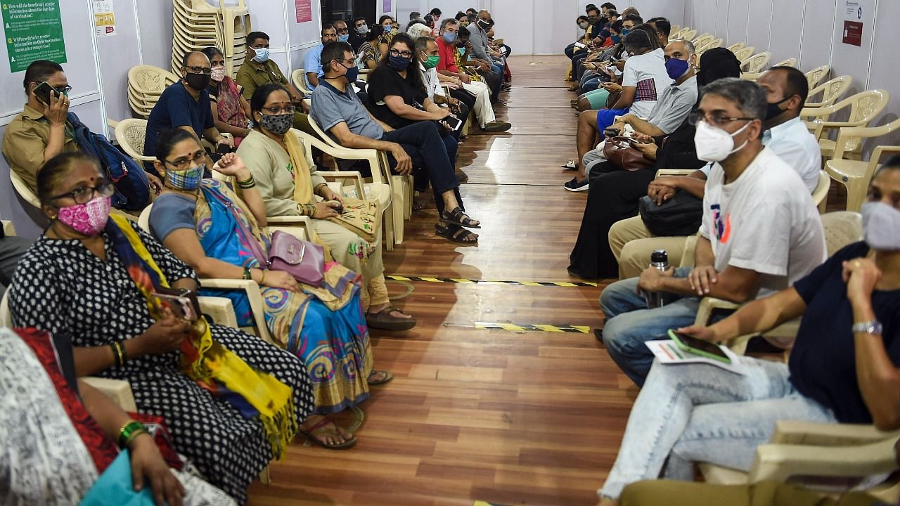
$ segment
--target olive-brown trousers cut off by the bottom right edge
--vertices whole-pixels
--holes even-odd
[[[619,506],[869,506],[878,500],[864,492],[848,492],[840,499],[786,483],[752,485],[647,480],[625,487]]]

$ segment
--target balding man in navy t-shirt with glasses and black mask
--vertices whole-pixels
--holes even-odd
[[[212,68],[210,59],[200,51],[189,52],[182,59],[182,80],[168,86],[150,112],[147,120],[147,135],[144,139],[144,156],[156,157],[157,135],[160,131],[182,128],[193,132],[200,140],[204,138],[213,145],[229,144],[212,122],[210,86]],[[158,176],[153,164],[145,163],[146,170]]]

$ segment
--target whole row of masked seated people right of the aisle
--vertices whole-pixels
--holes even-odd
[[[644,23],[634,8],[588,5],[577,23],[585,34],[565,54],[570,91],[581,94],[578,156],[563,165],[575,173],[564,186],[588,199],[569,273],[619,278],[600,295],[606,321],[595,334],[640,387],[601,504],[834,503],[789,485],[678,481],[693,481],[697,463],[750,470],[778,420],[900,428],[900,157],[872,179],[865,240],[828,258],[801,71],[742,79],[731,50],[698,56],[691,41],[669,39],[668,20]],[[705,297],[743,305],[696,325]],[[796,338],[766,337],[795,319]],[[752,344],[790,356],[742,357],[741,375],[672,366],[646,344],[672,332],[713,343],[763,336]],[[840,503],[876,500],[849,493]]]

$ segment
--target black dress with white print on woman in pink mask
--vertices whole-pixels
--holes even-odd
[[[137,224],[132,226],[170,283],[196,279],[191,267]],[[130,339],[154,323],[144,296],[109,240],[103,261],[79,240],[41,236],[15,270],[9,304],[16,327],[69,334],[76,347]],[[211,331],[213,339],[248,365],[293,389],[298,422],[310,415],[311,384],[300,359],[240,330],[212,325]],[[259,423],[182,374],[178,358],[177,351],[129,357],[124,366],[98,375],[127,380],[138,410],[166,420],[175,449],[191,459],[209,483],[246,502],[247,486],[272,460],[272,449]]]

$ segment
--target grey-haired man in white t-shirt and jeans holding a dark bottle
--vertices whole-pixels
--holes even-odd
[[[693,268],[609,285],[600,306],[609,320],[603,342],[636,384],[653,365],[645,341],[692,325],[700,297],[744,303],[779,291],[826,258],[822,221],[806,185],[761,143],[766,93],[752,81],[725,78],[703,89],[695,137],[698,158],[713,164],[703,199],[703,222]],[[666,304],[647,309],[641,293]]]

